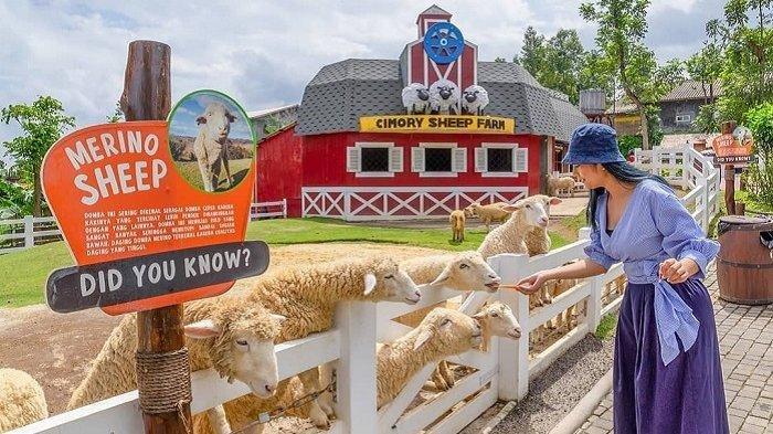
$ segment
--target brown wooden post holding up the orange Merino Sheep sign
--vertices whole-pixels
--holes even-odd
[[[162,120],[171,108],[169,45],[155,41],[129,43],[120,108],[126,120]],[[166,353],[184,347],[182,305],[137,314],[137,352]],[[190,374],[189,374],[190,375]],[[190,377],[188,378],[190,388]],[[140,391],[140,394],[142,392]],[[192,432],[190,403],[167,413],[142,412],[145,432],[183,434]]]

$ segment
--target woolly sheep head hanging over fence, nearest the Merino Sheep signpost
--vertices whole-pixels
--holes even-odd
[[[274,339],[285,317],[262,305],[222,298],[210,318],[184,326],[190,339],[208,340],[214,369],[229,382],[247,384],[261,398],[274,394],[279,382]]]

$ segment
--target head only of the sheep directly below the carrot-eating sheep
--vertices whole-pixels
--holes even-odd
[[[459,353],[483,343],[480,324],[458,310],[435,308],[424,317],[417,329],[414,350],[431,347],[442,353]]]

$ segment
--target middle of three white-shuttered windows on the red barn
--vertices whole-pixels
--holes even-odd
[[[411,170],[420,177],[457,177],[467,171],[467,148],[447,142],[419,144],[411,148]]]

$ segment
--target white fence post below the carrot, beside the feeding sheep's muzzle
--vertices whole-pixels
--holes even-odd
[[[513,284],[527,275],[527,255],[504,254],[488,261],[502,283]],[[529,297],[517,290],[500,290],[499,299],[510,306],[522,330],[516,341],[499,340],[499,399],[520,400],[529,392]]]

